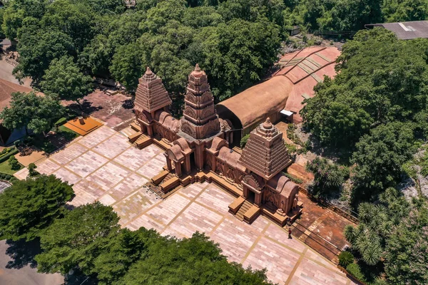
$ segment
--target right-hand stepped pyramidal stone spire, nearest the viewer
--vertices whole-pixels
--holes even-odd
[[[239,162],[265,180],[291,164],[282,133],[270,123],[270,118],[250,133]]]

